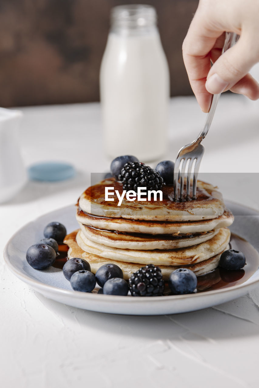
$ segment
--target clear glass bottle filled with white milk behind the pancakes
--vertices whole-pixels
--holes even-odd
[[[111,158],[152,161],[166,151],[169,70],[150,5],[120,5],[100,70],[104,144]]]

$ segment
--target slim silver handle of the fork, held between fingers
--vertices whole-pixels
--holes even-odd
[[[232,47],[238,41],[238,38],[239,38],[239,35],[237,35],[237,34],[235,34],[233,32],[226,32],[226,38],[225,38],[224,46],[223,46],[223,49],[222,49],[222,54],[225,51],[227,51],[229,49],[229,47]],[[221,93],[220,94],[214,94],[212,96],[212,102],[211,102],[211,105],[210,105],[210,110],[209,110],[209,112],[207,114],[207,117],[206,117],[205,123],[203,125],[203,128],[201,130],[201,133],[199,134],[199,136],[197,137],[196,140],[200,139],[200,141],[201,141],[207,135],[208,130],[210,129],[210,125],[212,123],[212,119],[213,119],[213,116],[214,116],[214,113],[215,113],[215,110],[216,110],[216,107],[217,107],[220,95],[221,95]]]

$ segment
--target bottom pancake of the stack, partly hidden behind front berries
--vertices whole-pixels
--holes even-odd
[[[128,280],[130,276],[136,272],[140,267],[142,267],[141,264],[136,263],[126,263],[122,262],[120,260],[110,260],[106,258],[102,258],[98,255],[94,255],[92,253],[88,253],[83,251],[76,242],[76,235],[78,230],[75,230],[74,232],[68,234],[65,237],[64,242],[69,246],[68,250],[68,258],[78,257],[82,258],[84,260],[87,260],[87,262],[91,266],[91,271],[95,274],[98,268],[101,267],[101,265],[113,263],[116,265],[119,265],[119,267],[123,271],[123,277],[124,279]],[[221,252],[222,253],[222,252]],[[219,259],[221,256],[221,253],[218,255],[215,255],[207,260],[204,260],[202,262],[194,263],[192,265],[181,265],[181,266],[159,266],[161,268],[161,272],[163,274],[163,278],[165,280],[168,280],[171,272],[177,268],[189,268],[192,270],[196,276],[206,274],[207,272],[210,272],[218,267],[219,265]]]

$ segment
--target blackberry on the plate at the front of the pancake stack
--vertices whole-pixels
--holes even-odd
[[[165,289],[161,269],[153,264],[141,267],[129,279],[132,296],[161,296]]]

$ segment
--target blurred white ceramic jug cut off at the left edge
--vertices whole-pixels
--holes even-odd
[[[22,113],[0,108],[0,202],[17,194],[27,180],[18,129]]]

